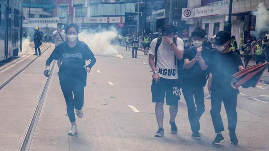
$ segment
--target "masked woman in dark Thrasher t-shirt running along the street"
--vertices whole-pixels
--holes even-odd
[[[46,61],[46,69],[44,75],[49,76],[50,63],[53,60],[62,60],[59,69],[59,80],[64,99],[67,106],[67,114],[72,124],[68,135],[76,135],[78,127],[76,125],[76,114],[79,118],[83,117],[84,87],[86,86],[87,72],[96,62],[94,54],[89,47],[77,38],[79,27],[76,24],[69,24],[65,33],[68,41],[56,46]],[[85,65],[85,61],[90,60],[89,65]],[[74,94],[74,97],[73,97]]]

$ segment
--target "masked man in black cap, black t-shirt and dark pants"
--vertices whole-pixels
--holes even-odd
[[[224,131],[222,118],[220,116],[221,102],[225,106],[228,118],[228,129],[230,131],[230,143],[238,144],[238,139],[235,134],[237,123],[237,95],[238,89],[231,87],[231,80],[234,73],[243,70],[244,66],[240,56],[231,51],[230,34],[226,31],[219,31],[216,34],[214,45],[216,49],[209,52],[205,59],[205,64],[208,66],[209,72],[212,73],[211,84],[211,117],[215,132],[217,133],[212,145],[218,146],[225,141],[221,132]]]

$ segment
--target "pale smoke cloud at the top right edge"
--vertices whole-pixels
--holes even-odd
[[[252,15],[256,15],[256,31],[251,32],[251,35],[260,38],[260,32],[269,31],[269,11],[264,7],[263,3],[260,3],[257,6],[257,11],[253,11]]]

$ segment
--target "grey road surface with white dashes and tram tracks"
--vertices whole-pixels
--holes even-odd
[[[49,47],[50,44],[44,44]],[[29,121],[46,82],[43,76],[45,61],[52,52],[52,45],[22,73],[0,90],[1,135],[0,150],[18,150],[27,131]],[[183,95],[179,101],[176,124],[178,134],[170,133],[169,108],[164,109],[162,138],[154,137],[157,121],[155,104],[151,102],[152,72],[148,56],[138,51],[138,58],[131,58],[131,51],[117,47],[123,58],[96,56],[97,63],[87,77],[84,97],[84,116],[76,120],[78,134],[68,136],[71,124],[55,66],[46,98],[31,142],[30,150],[182,150],[182,151],[267,151],[269,150],[269,85],[240,88],[238,95],[238,145],[229,143],[227,116],[222,106],[226,142],[213,147],[215,137],[210,116],[210,100],[205,100],[205,113],[200,119],[201,140],[191,138],[187,107]],[[15,66],[0,67],[0,84],[30,62],[33,56]],[[8,69],[6,69],[9,67]],[[4,70],[4,71],[3,71]],[[205,93],[208,93],[205,87]],[[206,96],[207,94],[205,94]]]

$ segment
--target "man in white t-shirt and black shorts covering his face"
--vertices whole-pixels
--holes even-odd
[[[166,104],[170,106],[169,123],[171,125],[171,133],[177,134],[178,131],[175,124],[178,100],[180,99],[177,59],[181,60],[183,58],[184,43],[180,38],[176,38],[176,44],[174,43],[174,31],[174,26],[165,25],[162,29],[162,38],[154,39],[149,48],[149,65],[153,70],[151,85],[152,102],[156,103],[155,115],[159,126],[158,131],[154,135],[155,137],[164,136],[164,98],[166,98]]]

